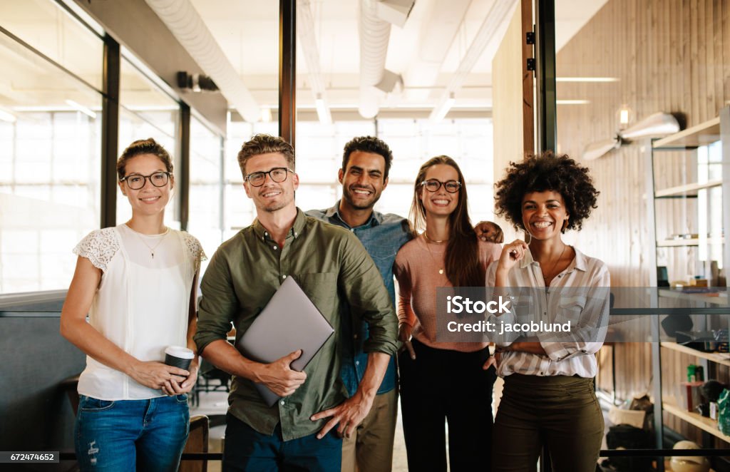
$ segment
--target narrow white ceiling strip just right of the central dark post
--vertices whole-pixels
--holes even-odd
[[[312,18],[310,0],[296,0],[296,36],[299,37],[301,52],[310,76],[310,88],[315,98],[320,122],[332,123],[332,115],[327,102],[327,91],[320,68],[319,48],[315,37],[315,20]]]

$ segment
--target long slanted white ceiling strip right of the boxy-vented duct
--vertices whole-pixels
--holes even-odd
[[[499,0],[492,4],[489,13],[479,27],[472,44],[469,45],[469,49],[464,53],[464,57],[461,58],[461,62],[458,68],[451,76],[449,85],[446,90],[439,98],[434,110],[431,112],[429,119],[431,121],[439,121],[439,116],[443,116],[446,113],[444,108],[447,107],[449,102],[453,103],[453,97],[456,91],[464,85],[466,76],[472,71],[472,68],[477,63],[477,60],[484,52],[485,48],[489,45],[494,34],[499,30],[499,26],[507,21],[507,15],[512,11],[512,7],[515,6],[516,0]],[[447,110],[448,111],[448,110]]]

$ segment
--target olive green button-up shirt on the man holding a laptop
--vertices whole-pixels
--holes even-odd
[[[215,251],[201,282],[195,335],[199,352],[205,356],[205,346],[226,339],[231,321],[238,340],[287,277],[299,283],[334,335],[304,369],[307,381],[274,406],[266,406],[253,381],[239,376],[228,397],[228,412],[259,433],[271,435],[281,422],[284,441],[316,433],[328,419],[312,422],[310,416],[345,400],[339,349],[347,342],[340,324],[348,311],[368,324],[366,352],[395,354],[398,331],[383,278],[358,238],[298,208],[284,247],[256,220]]]

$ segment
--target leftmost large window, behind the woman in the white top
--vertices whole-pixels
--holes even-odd
[[[0,18],[0,293],[63,289],[99,227],[102,43],[53,2]]]

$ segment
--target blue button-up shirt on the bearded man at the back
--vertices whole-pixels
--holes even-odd
[[[385,288],[388,289],[394,305],[396,293],[393,285],[393,262],[395,262],[396,254],[401,246],[411,239],[408,221],[398,215],[383,215],[383,213],[374,211],[365,224],[351,228],[339,216],[339,201],[334,207],[326,210],[307,211],[307,215],[349,229],[358,237],[380,270],[380,275],[383,275]],[[342,339],[350,339],[352,343],[344,343],[345,346],[342,346],[340,376],[345,383],[347,393],[353,395],[357,391],[367,367],[367,354],[363,351],[363,343],[368,337],[368,330],[367,324],[353,316],[342,321],[342,330],[345,335]],[[391,357],[383,383],[380,384],[377,392],[378,394],[390,392],[394,388],[396,388],[396,359]]]

